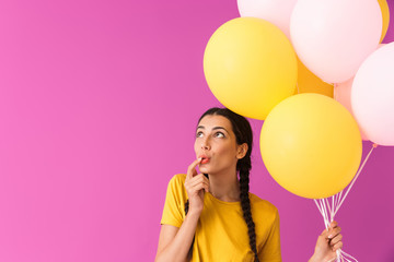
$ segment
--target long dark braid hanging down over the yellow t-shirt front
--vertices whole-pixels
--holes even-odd
[[[247,235],[250,237],[250,245],[252,251],[255,253],[255,262],[259,262],[257,258],[255,224],[252,218],[251,200],[248,198],[250,169],[252,167],[251,156],[246,155],[243,159],[239,160],[237,166],[240,168],[240,190],[241,190],[240,198],[241,198],[243,217],[247,225]]]

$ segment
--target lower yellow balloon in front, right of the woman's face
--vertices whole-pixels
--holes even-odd
[[[361,162],[357,122],[338,102],[320,94],[293,95],[265,120],[260,151],[267,170],[288,191],[309,199],[340,192]]]

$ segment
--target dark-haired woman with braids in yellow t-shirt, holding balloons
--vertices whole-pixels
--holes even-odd
[[[200,117],[197,159],[169,182],[155,261],[281,261],[278,211],[248,192],[252,142],[248,121],[227,108]],[[341,247],[334,222],[310,262],[333,260]]]

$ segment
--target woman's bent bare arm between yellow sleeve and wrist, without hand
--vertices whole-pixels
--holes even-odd
[[[199,215],[190,211],[179,228],[162,225],[154,261],[186,261]]]

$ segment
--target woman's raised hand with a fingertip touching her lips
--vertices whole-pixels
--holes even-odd
[[[204,209],[204,193],[209,192],[209,180],[204,174],[196,171],[201,158],[196,159],[187,168],[185,188],[189,200],[189,211],[201,213]]]

